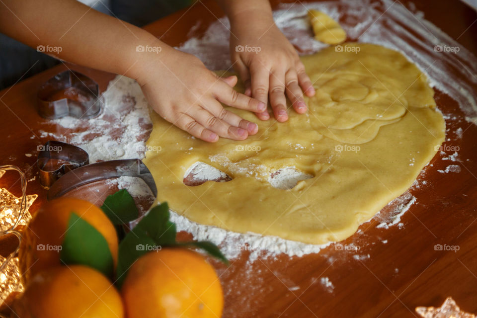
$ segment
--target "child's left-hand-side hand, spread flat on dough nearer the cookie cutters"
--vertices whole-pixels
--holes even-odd
[[[144,53],[137,80],[159,115],[207,142],[219,137],[244,140],[258,131],[256,124],[227,111],[220,102],[253,112],[266,104],[238,93],[237,77],[219,78],[193,55],[162,47],[159,54]]]

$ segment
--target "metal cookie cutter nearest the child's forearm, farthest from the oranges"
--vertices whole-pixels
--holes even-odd
[[[98,84],[76,71],[48,79],[38,91],[38,114],[46,119],[95,117],[101,111]]]

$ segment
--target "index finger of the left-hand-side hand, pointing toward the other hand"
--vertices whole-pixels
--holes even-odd
[[[217,82],[214,97],[220,102],[239,109],[245,109],[253,112],[262,112],[266,105],[244,94],[240,94],[223,81]]]

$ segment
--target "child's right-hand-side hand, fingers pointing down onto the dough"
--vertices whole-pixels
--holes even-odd
[[[271,14],[242,11],[231,17],[231,25],[232,63],[245,81],[245,94],[265,104],[270,96],[273,114],[280,122],[288,120],[285,93],[295,111],[305,113],[303,91],[313,96],[315,89],[297,51],[275,25]],[[269,119],[268,112],[257,116]]]

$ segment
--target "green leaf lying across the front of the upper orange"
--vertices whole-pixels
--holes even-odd
[[[60,259],[65,264],[81,264],[107,277],[113,274],[113,257],[108,242],[92,225],[72,213],[63,240]]]

